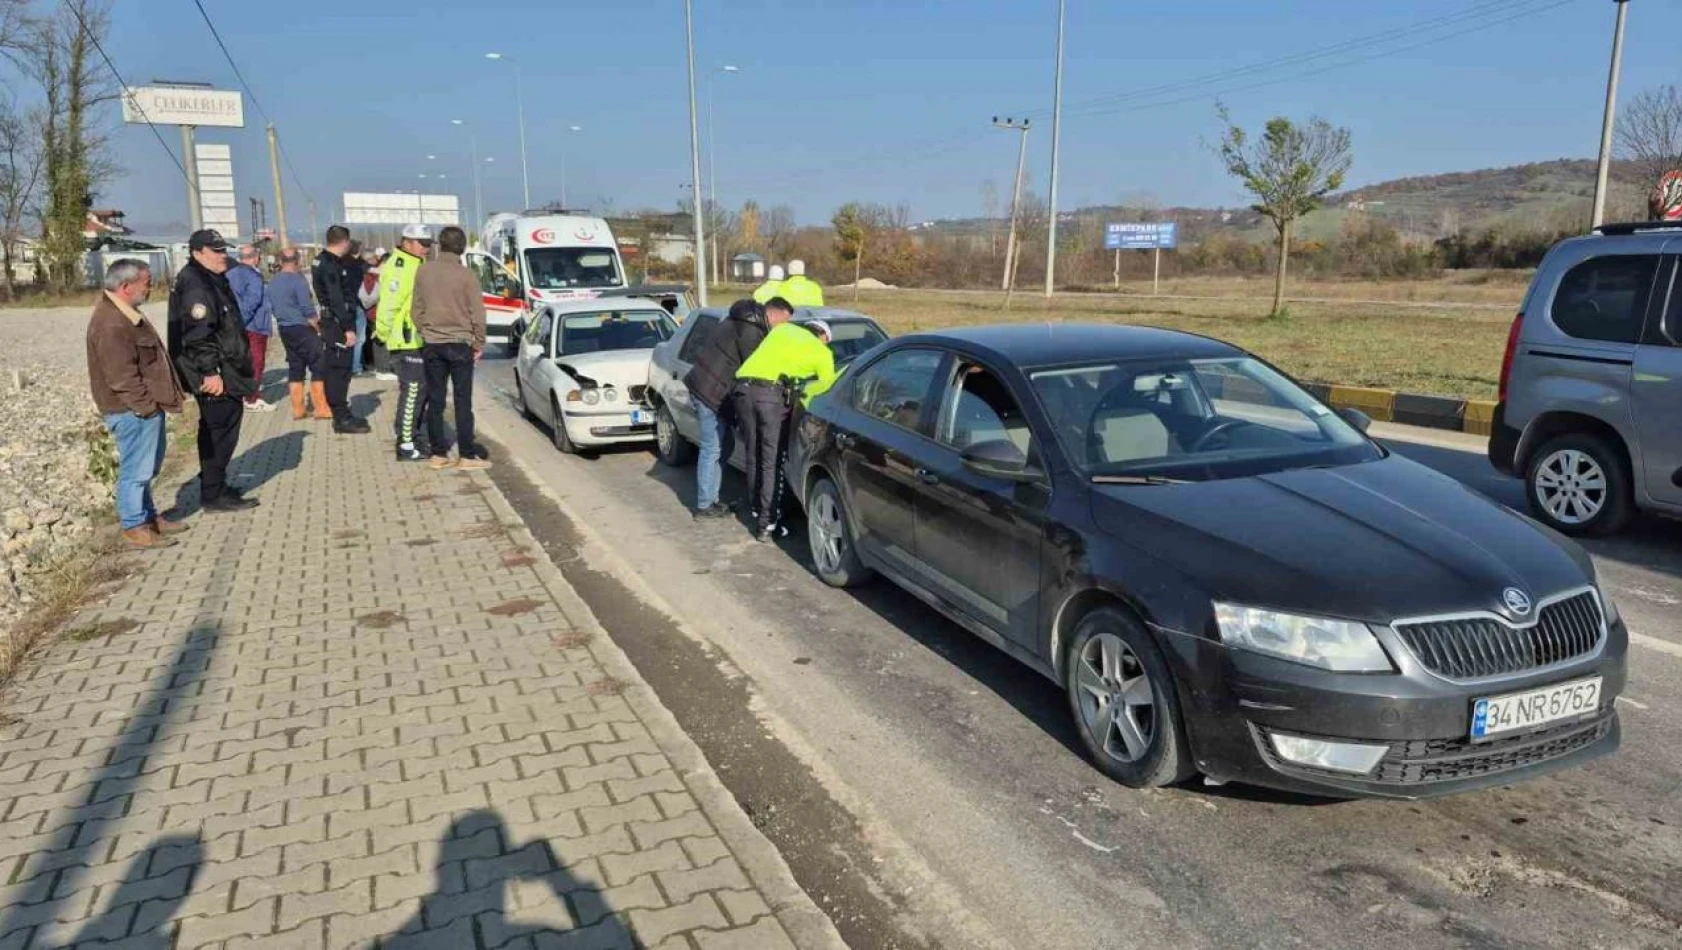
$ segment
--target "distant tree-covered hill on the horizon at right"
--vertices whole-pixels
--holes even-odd
[[[1645,217],[1645,200],[1637,187],[1635,168],[1621,161],[1613,163],[1611,175],[1610,217]],[[1478,234],[1487,229],[1561,230],[1584,225],[1593,197],[1595,161],[1586,158],[1418,175],[1332,195],[1322,210],[1299,222],[1297,239],[1336,237],[1352,214],[1383,220],[1413,240],[1435,240],[1457,232]],[[1097,205],[1063,212],[1060,220],[1083,217],[1135,220],[1140,212]],[[1273,227],[1248,207],[1174,207],[1157,210],[1156,217],[1181,222],[1181,240],[1186,242],[1223,230],[1255,240],[1273,237]],[[945,234],[977,234],[987,229],[986,219],[937,220],[920,225],[920,230]]]

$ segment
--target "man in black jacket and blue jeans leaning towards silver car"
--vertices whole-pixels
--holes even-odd
[[[700,331],[696,326],[691,333]],[[695,516],[728,518],[730,508],[718,503],[718,483],[723,479],[723,461],[733,449],[730,390],[735,388],[735,372],[754,355],[759,341],[770,328],[765,325],[765,308],[752,299],[730,304],[730,313],[701,340],[695,365],[683,377],[695,404],[695,419],[701,425],[701,452],[695,466]]]

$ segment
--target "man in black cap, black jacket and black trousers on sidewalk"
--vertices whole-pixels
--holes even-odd
[[[170,289],[170,358],[198,400],[198,501],[205,511],[256,508],[227,484],[246,397],[257,392],[246,321],[227,284],[227,242],[215,230],[195,230],[187,249],[193,259]]]

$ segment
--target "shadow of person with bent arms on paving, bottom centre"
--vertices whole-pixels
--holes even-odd
[[[513,920],[508,884],[520,881],[547,888],[567,910],[570,926]],[[404,926],[380,940],[380,947],[420,950],[439,947],[439,937],[449,937],[461,947],[503,947],[545,933],[570,935],[590,947],[644,947],[602,893],[562,864],[548,841],[528,841],[516,847],[508,841],[508,826],[500,814],[476,809],[451,822],[439,847],[432,893],[422,898]]]

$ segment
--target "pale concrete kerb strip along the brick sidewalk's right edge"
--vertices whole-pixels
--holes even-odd
[[[495,437],[496,424],[481,425],[481,430]],[[542,484],[538,476],[520,459],[503,459],[498,464],[511,464],[535,484]],[[748,881],[764,895],[772,913],[789,933],[789,938],[801,948],[846,950],[846,943],[841,940],[834,921],[829,920],[829,915],[794,879],[794,871],[789,869],[777,847],[754,827],[754,822],[748,821],[747,814],[737,804],[735,795],[725,789],[723,782],[713,772],[711,763],[706,762],[706,755],[683,731],[676,716],[659,701],[654,688],[637,673],[631,657],[619,649],[619,644],[612,641],[595,619],[595,612],[590,610],[589,604],[574,590],[555,562],[550,560],[548,552],[543,550],[543,545],[526,526],[525,518],[515,511],[495,481],[486,479],[484,484],[489,486],[484,498],[496,513],[496,518],[508,526],[510,538],[516,545],[525,546],[535,558],[532,568],[537,572],[543,588],[555,599],[562,614],[572,620],[575,629],[594,634],[587,647],[590,656],[614,679],[636,686],[634,689],[627,689],[622,698],[648,726],[654,745],[676,767],[685,787],[695,795],[695,800],[701,805],[701,812],[718,831],[718,836],[723,837],[735,859],[740,861]]]

